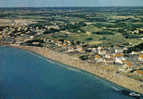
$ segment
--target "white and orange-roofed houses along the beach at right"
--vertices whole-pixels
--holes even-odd
[[[105,65],[114,64],[119,66],[119,71],[131,72],[135,70],[135,73],[143,73],[140,68],[143,68],[143,53],[142,52],[132,52],[128,56],[124,54],[124,50],[127,48],[113,47],[104,48],[99,46],[97,48],[85,47],[86,43],[73,43],[68,40],[44,40],[47,43],[47,47],[50,44],[61,47],[65,52],[84,55],[88,54],[87,61],[92,63],[103,63]],[[140,71],[140,72],[139,72]]]

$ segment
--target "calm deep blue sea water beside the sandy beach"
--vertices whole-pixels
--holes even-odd
[[[37,54],[0,47],[0,99],[135,99],[118,89]]]

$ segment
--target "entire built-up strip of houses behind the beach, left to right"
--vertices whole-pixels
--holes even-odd
[[[69,41],[64,39],[35,39],[36,36],[42,35],[50,29],[60,31],[58,25],[29,27],[27,24],[17,26],[11,25],[0,32],[1,42],[7,42],[16,46],[39,46],[47,47],[52,50],[76,56],[83,61],[92,64],[115,65],[119,67],[118,73],[133,73],[138,76],[143,76],[143,52],[132,51],[129,54],[124,53],[126,47],[104,47],[89,46],[87,42]]]

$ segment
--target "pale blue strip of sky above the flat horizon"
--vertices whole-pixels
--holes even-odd
[[[0,0],[0,7],[143,6],[143,0]]]

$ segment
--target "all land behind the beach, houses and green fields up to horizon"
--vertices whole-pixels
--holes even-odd
[[[91,64],[113,65],[117,73],[143,81],[143,8],[20,12],[0,9],[0,43],[46,47]],[[11,20],[5,22],[7,17]]]

